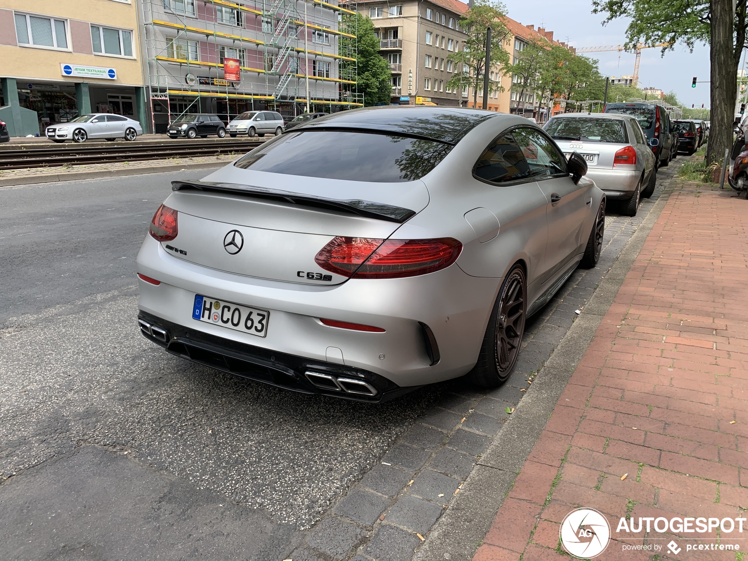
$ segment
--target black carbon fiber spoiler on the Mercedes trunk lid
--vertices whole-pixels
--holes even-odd
[[[404,209],[401,206],[393,206],[384,203],[374,203],[370,200],[330,199],[327,197],[316,197],[310,194],[295,193],[293,191],[282,191],[281,189],[241,185],[239,183],[212,183],[208,181],[171,182],[172,191],[183,191],[185,189],[218,191],[223,193],[241,194],[245,197],[278,200],[283,203],[293,203],[300,206],[311,206],[319,209],[349,212],[350,214],[397,222],[399,224],[402,224],[416,214],[416,212],[411,209]]]

